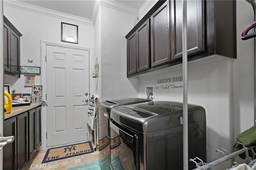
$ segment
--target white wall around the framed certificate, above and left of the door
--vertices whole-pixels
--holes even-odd
[[[91,25],[62,20],[10,6],[4,6],[4,16],[22,33],[20,38],[21,65],[30,60],[41,66],[41,40],[79,47],[94,47],[94,27]],[[78,44],[61,42],[61,22],[78,25]],[[26,66],[33,66],[33,64],[26,64]],[[32,90],[30,87],[24,87],[23,74],[20,78],[5,76],[4,84],[11,84],[11,89],[16,89],[16,93],[31,93]],[[35,84],[41,84],[41,76],[35,77]]]

